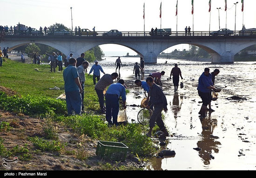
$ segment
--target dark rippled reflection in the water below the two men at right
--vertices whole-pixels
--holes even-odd
[[[211,119],[209,113],[208,118],[202,118],[200,121],[202,124],[202,140],[197,142],[197,147],[201,148],[198,154],[202,158],[204,165],[210,165],[210,160],[214,159],[213,152],[218,153],[218,145],[221,145],[219,141],[216,141],[217,137],[212,135],[217,125],[217,120]]]

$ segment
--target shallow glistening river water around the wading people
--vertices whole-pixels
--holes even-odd
[[[115,72],[116,57],[100,61],[105,73]],[[139,58],[121,58],[121,79],[130,90],[127,105],[140,105],[143,89],[134,84],[133,66]],[[149,170],[256,170],[256,62],[234,64],[210,64],[185,60],[158,59],[157,64],[145,67],[145,77],[152,72],[165,71],[162,76],[164,93],[168,101],[165,125],[174,137],[168,137],[168,149],[176,155],[168,158],[152,158]],[[167,80],[174,63],[181,68],[184,88],[175,95],[172,81]],[[215,86],[222,88],[218,99],[212,101],[215,112],[207,113],[200,120],[198,112],[202,103],[196,85],[205,67],[212,72],[220,70]],[[90,66],[89,66],[90,68]],[[143,79],[143,78],[142,78]],[[249,97],[235,101],[225,98],[233,95]],[[127,107],[129,122],[137,121],[140,107]],[[134,120],[132,120],[134,119]],[[193,148],[201,148],[196,151]],[[163,147],[162,147],[163,149]]]

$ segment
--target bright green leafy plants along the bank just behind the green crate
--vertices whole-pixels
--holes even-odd
[[[74,132],[88,135],[97,140],[122,142],[127,145],[131,152],[138,156],[147,157],[155,154],[151,138],[146,137],[140,124],[127,124],[118,127],[108,127],[103,121],[102,116],[87,115],[58,117]]]

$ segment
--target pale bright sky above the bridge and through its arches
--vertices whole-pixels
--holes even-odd
[[[26,26],[39,29],[40,26],[50,26],[62,23],[71,28],[71,9],[73,16],[73,29],[75,26],[95,31],[109,31],[117,29],[121,32],[143,32],[143,4],[145,3],[145,31],[151,28],[160,28],[160,4],[162,2],[162,28],[171,28],[184,31],[186,26],[193,30],[193,15],[191,14],[191,0],[178,0],[178,15],[176,13],[177,0],[0,0],[0,25],[16,26],[19,22]],[[235,6],[234,3],[237,3]],[[226,26],[225,0],[211,0],[211,13],[209,13],[209,0],[194,0],[194,31],[219,30],[219,15],[216,8],[221,7],[220,28]],[[227,28],[236,30],[256,27],[256,0],[244,0],[242,13],[241,0],[227,0]],[[5,17],[5,14],[7,16]],[[211,17],[211,19],[210,19]],[[178,20],[178,22],[177,22]],[[101,45],[105,54],[115,51],[123,53],[136,53],[127,47],[119,45]],[[164,52],[170,53],[175,48],[188,49],[188,45],[179,45],[168,48]],[[113,50],[115,49],[115,50]],[[121,54],[117,54],[121,55]]]

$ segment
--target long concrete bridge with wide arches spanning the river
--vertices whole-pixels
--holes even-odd
[[[40,43],[52,46],[65,55],[74,54],[74,58],[80,56],[94,46],[103,44],[117,44],[126,46],[138,53],[146,63],[156,63],[157,56],[167,48],[179,44],[189,44],[201,47],[212,55],[212,63],[233,63],[234,56],[244,48],[256,44],[256,35],[224,35],[210,36],[209,32],[191,32],[191,36],[182,33],[174,33],[168,36],[150,36],[149,32],[127,32],[122,36],[98,35],[4,35],[0,46],[16,47],[29,43]],[[181,35],[182,34],[182,35]],[[115,50],[115,49],[113,49]]]

